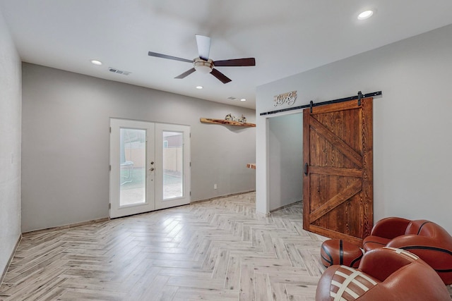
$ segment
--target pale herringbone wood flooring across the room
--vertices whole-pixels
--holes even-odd
[[[321,238],[254,192],[24,235],[0,300],[314,300]]]

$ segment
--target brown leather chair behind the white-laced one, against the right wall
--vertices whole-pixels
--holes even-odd
[[[368,252],[384,246],[416,254],[432,266],[445,284],[452,284],[452,236],[436,223],[399,217],[382,219],[364,238],[363,247]]]

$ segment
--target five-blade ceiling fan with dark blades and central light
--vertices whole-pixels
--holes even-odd
[[[210,37],[196,35],[196,44],[198,45],[199,57],[193,60],[182,59],[176,56],[167,56],[166,54],[157,54],[157,52],[152,51],[149,51],[148,55],[162,59],[170,59],[174,61],[184,61],[187,63],[193,63],[193,68],[191,68],[190,70],[186,70],[184,73],[176,76],[175,78],[185,78],[191,73],[199,71],[201,73],[210,73],[211,75],[215,76],[215,78],[218,78],[218,80],[220,80],[223,84],[230,82],[231,79],[227,78],[226,75],[215,69],[215,67],[256,66],[256,60],[254,58],[230,59],[223,61],[213,61],[212,59],[209,59]]]

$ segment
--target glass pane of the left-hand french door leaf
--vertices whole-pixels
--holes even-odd
[[[146,130],[121,128],[119,206],[145,202]]]

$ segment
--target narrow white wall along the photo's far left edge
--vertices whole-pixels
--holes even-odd
[[[0,11],[0,277],[20,238],[20,59]],[[0,279],[1,281],[1,279]]]

